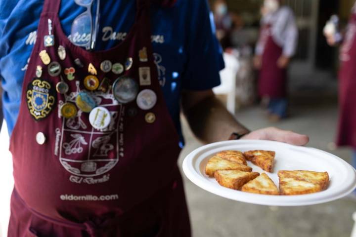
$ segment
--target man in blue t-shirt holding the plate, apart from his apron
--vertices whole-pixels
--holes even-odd
[[[220,84],[219,71],[223,69],[223,59],[208,3],[206,0],[172,2],[174,4],[168,7],[156,0],[151,6],[151,41],[158,79],[180,134],[180,146],[183,146],[180,110],[196,137],[204,143],[243,138],[306,144],[307,136],[276,128],[250,132],[227,112],[212,91]],[[36,30],[43,3],[43,0],[0,0],[2,103],[10,135],[18,117],[29,57],[38,40]],[[125,39],[134,24],[135,4],[134,0],[101,4],[95,50],[112,48]],[[62,1],[60,6],[62,29],[74,43],[82,40],[82,36],[70,35],[71,24],[83,10],[74,0]]]

